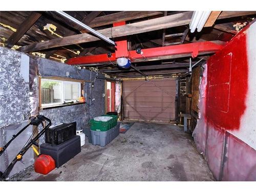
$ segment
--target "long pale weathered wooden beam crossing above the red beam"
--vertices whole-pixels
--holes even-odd
[[[170,27],[176,27],[189,24],[193,12],[184,12],[175,15],[169,15],[165,17],[159,17],[155,19],[145,20],[143,22],[137,22],[119,27],[107,28],[98,30],[99,33],[106,37],[120,37],[126,35],[133,35],[143,33],[147,31],[160,30]],[[44,42],[36,42],[34,44],[21,47],[19,50],[22,52],[32,52],[44,49],[50,49],[61,46],[68,46],[73,44],[81,44],[84,42],[91,42],[100,40],[98,37],[92,36],[87,33],[72,35],[63,38],[56,38],[47,40]]]

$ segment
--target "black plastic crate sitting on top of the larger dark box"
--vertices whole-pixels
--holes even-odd
[[[46,130],[46,143],[60,144],[76,135],[76,122],[62,123]]]

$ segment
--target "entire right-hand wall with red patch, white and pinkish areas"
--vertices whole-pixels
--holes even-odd
[[[256,181],[255,37],[253,22],[204,66],[193,135],[217,180]]]

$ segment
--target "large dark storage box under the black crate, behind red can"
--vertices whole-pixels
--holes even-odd
[[[40,152],[44,155],[50,155],[55,161],[55,166],[59,168],[81,152],[80,136],[74,136],[59,145],[42,143]]]

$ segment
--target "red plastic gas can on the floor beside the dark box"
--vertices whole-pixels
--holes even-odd
[[[55,161],[49,155],[40,155],[34,163],[35,172],[47,175],[55,168]]]

